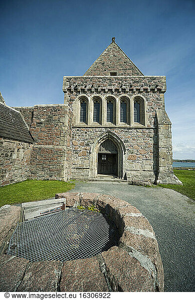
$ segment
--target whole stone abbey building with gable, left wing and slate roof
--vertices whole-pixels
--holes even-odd
[[[83,76],[64,77],[63,91],[64,104],[33,107],[9,107],[1,96],[1,185],[104,175],[180,184],[165,76],[143,75],[113,37]]]

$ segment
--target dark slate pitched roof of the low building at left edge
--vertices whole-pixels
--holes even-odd
[[[13,140],[33,142],[29,129],[16,109],[0,102],[0,136]]]

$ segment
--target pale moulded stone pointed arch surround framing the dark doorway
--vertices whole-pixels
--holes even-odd
[[[96,177],[98,175],[98,151],[101,148],[101,145],[105,145],[104,142],[106,140],[110,140],[110,145],[114,145],[113,147],[115,147],[115,149],[116,149],[115,153],[113,153],[113,154],[117,154],[115,156],[116,165],[117,165],[115,174],[117,177],[123,178],[125,171],[126,171],[126,155],[125,155],[126,150],[125,150],[123,141],[120,139],[120,137],[117,134],[115,134],[112,131],[107,131],[107,132],[104,132],[103,134],[100,134],[94,141],[94,143],[91,147],[91,150],[90,150],[89,176]],[[108,144],[109,144],[109,142],[108,142]]]

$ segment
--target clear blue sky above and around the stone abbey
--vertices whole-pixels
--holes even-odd
[[[8,105],[63,103],[63,75],[83,75],[115,36],[145,75],[166,75],[173,158],[195,159],[194,0],[2,0],[0,11]]]

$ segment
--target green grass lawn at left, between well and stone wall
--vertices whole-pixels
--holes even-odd
[[[59,180],[25,180],[0,187],[0,206],[55,197],[72,189],[75,183]]]

